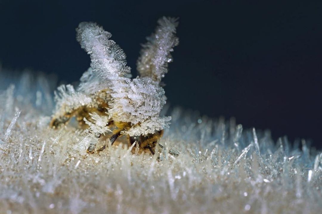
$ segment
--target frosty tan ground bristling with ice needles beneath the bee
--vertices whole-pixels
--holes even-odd
[[[3,76],[3,75],[1,75]],[[0,213],[319,213],[321,152],[174,109],[157,154],[87,154],[72,123],[49,128],[51,89],[23,76],[0,94]],[[30,82],[28,79],[35,79]],[[26,84],[28,83],[28,84]],[[41,90],[40,90],[41,89]],[[119,139],[120,141],[124,139]],[[174,148],[172,148],[174,147]],[[166,151],[179,150],[173,157]],[[160,149],[160,147],[159,147]]]

